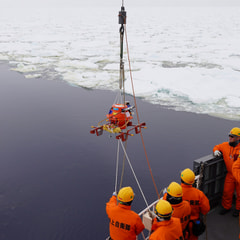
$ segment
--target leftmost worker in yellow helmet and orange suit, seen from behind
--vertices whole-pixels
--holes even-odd
[[[118,195],[114,192],[106,204],[109,218],[109,239],[136,240],[136,236],[145,228],[139,215],[131,210],[133,199],[133,189],[124,187],[120,189]]]

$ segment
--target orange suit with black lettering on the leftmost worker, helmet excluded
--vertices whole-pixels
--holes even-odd
[[[131,210],[131,206],[117,204],[116,196],[112,196],[106,204],[106,212],[113,240],[136,240],[136,236],[145,228],[139,215]]]

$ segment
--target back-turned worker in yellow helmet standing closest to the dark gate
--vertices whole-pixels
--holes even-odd
[[[210,211],[208,198],[202,191],[192,186],[194,182],[195,174],[191,169],[186,168],[181,172],[181,187],[183,191],[182,199],[188,201],[191,206],[189,240],[198,239],[193,231],[193,222],[200,223],[202,221],[200,214],[206,215]]]

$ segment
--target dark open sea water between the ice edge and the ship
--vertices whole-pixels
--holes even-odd
[[[65,82],[25,79],[0,65],[0,239],[105,239],[105,203],[114,191],[117,140],[95,136],[116,93]],[[129,97],[129,100],[132,99]],[[143,137],[159,191],[180,171],[227,140],[238,122],[167,110],[137,100]],[[128,156],[150,203],[157,198],[139,135]],[[136,193],[133,210],[145,208],[126,163],[123,186]]]

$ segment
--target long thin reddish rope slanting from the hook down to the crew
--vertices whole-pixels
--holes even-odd
[[[129,73],[130,73],[130,79],[131,79],[131,85],[132,85],[132,91],[133,91],[133,99],[134,99],[134,104],[135,104],[135,108],[136,108],[138,124],[140,124],[140,119],[139,119],[139,114],[138,114],[138,109],[137,109],[137,101],[136,101],[135,90],[134,90],[134,85],[133,85],[133,77],[132,77],[132,69],[131,69],[131,62],[130,62],[130,56],[129,56],[126,24],[124,26],[125,26],[125,39],[126,39],[126,47],[127,47]],[[148,159],[146,146],[145,146],[145,143],[144,143],[144,139],[143,139],[143,135],[142,135],[142,130],[141,129],[140,129],[140,135],[141,135],[141,139],[142,139],[142,144],[143,144],[143,148],[144,148],[145,157],[146,157],[146,160],[147,160],[147,163],[148,163],[148,168],[149,168],[149,171],[150,171],[150,174],[151,174],[151,177],[152,177],[153,185],[154,185],[155,191],[157,193],[157,196],[160,199],[160,195],[158,193],[158,188],[157,188],[156,182],[154,180],[152,169],[151,169],[150,162],[149,162],[149,159]]]

